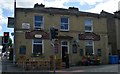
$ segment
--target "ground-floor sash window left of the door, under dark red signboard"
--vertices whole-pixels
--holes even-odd
[[[33,40],[33,54],[43,53],[43,41],[41,39]]]

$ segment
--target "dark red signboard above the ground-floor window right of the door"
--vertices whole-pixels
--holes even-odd
[[[86,32],[86,33],[79,34],[79,40],[99,41],[100,40],[100,35],[97,35],[93,32]]]

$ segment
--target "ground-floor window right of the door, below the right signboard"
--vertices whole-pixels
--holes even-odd
[[[87,40],[86,41],[86,55],[93,55],[94,54],[94,48],[93,48],[93,41],[92,40]]]

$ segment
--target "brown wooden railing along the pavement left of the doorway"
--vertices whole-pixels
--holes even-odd
[[[23,68],[24,70],[53,70],[54,69],[54,61],[53,60],[18,60],[17,66]],[[62,69],[62,60],[56,60],[56,69]]]

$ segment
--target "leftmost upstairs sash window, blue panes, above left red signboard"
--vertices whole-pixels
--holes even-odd
[[[34,28],[35,29],[43,28],[43,16],[34,17]]]

